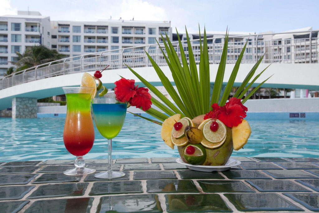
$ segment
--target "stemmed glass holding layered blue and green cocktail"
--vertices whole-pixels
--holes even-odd
[[[114,179],[125,176],[124,172],[112,171],[112,138],[121,131],[127,104],[115,98],[92,99],[93,117],[96,127],[104,138],[108,139],[108,171],[100,172],[94,177]]]

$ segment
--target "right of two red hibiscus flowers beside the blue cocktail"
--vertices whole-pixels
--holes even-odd
[[[146,111],[151,108],[151,98],[152,96],[148,93],[148,89],[140,87],[137,88],[136,95],[130,99],[130,105],[136,106],[136,108],[142,107],[142,110]]]

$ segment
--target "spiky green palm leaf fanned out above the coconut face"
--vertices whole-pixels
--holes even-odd
[[[177,32],[177,35],[178,35],[178,32]],[[192,46],[189,40],[189,35],[187,30],[186,30],[186,37],[187,37],[189,60],[187,60],[186,53],[183,49],[184,47],[182,46],[182,42],[179,36],[177,36],[177,38],[178,38],[179,47],[180,47],[180,51],[179,51],[181,55],[180,58],[178,58],[178,54],[175,51],[174,46],[171,43],[168,35],[166,35],[166,39],[164,38],[163,35],[161,35],[161,37],[162,37],[162,41],[165,46],[165,49],[163,50],[161,46],[159,45],[159,43],[158,45],[160,50],[162,51],[163,57],[165,58],[167,62],[167,66],[169,67],[171,71],[171,74],[174,79],[174,83],[177,87],[177,91],[179,92],[179,95],[176,93],[176,91],[174,90],[172,86],[172,83],[169,82],[167,76],[165,76],[165,74],[156,64],[156,62],[152,59],[152,57],[146,51],[145,52],[148,59],[151,61],[152,66],[154,67],[157,75],[159,76],[159,79],[161,80],[163,86],[167,90],[168,94],[174,100],[176,106],[173,103],[171,103],[154,86],[152,86],[151,83],[146,81],[142,76],[138,75],[137,72],[135,72],[132,68],[126,65],[130,69],[130,71],[134,75],[136,75],[137,78],[164,103],[162,104],[158,99],[156,99],[155,97],[152,97],[152,103],[154,104],[154,106],[159,107],[159,109],[163,110],[163,112],[168,114],[169,116],[179,113],[179,114],[182,114],[182,117],[187,116],[190,118],[194,118],[198,115],[208,113],[213,103],[219,103],[220,106],[225,105],[229,97],[229,94],[233,88],[233,84],[234,84],[236,75],[238,73],[241,59],[245,52],[247,42],[243,50],[241,51],[240,56],[238,57],[236,61],[233,72],[230,75],[229,80],[227,81],[228,83],[226,85],[224,92],[223,94],[221,94],[222,85],[224,81],[224,73],[225,73],[226,60],[227,60],[227,48],[228,48],[228,32],[226,31],[223,52],[221,55],[221,60],[219,63],[217,74],[216,74],[212,96],[210,97],[210,70],[209,70],[209,54],[208,54],[206,30],[204,29],[203,45],[202,45],[202,40],[200,39],[199,70],[197,70],[195,55],[193,54],[193,51],[192,51]],[[249,83],[250,79],[255,74],[257,67],[261,63],[262,59],[263,57],[261,57],[261,59],[259,59],[257,63],[253,66],[253,68],[250,70],[250,72],[246,76],[241,86],[235,92],[234,97],[242,98],[243,94],[245,94],[249,90],[249,88],[253,85],[256,79],[264,72],[266,68],[269,67],[269,66],[266,67],[259,75],[257,75],[253,79],[252,82]],[[269,78],[267,78],[266,80],[268,79]],[[252,92],[250,92],[249,95],[245,97],[244,100],[242,100],[242,103],[247,101],[247,99],[249,99],[249,97],[251,97],[253,93],[257,91],[257,89],[265,81],[260,83]],[[168,117],[166,114],[163,114],[154,108],[150,108],[149,110],[146,110],[145,112],[152,115],[153,117],[157,118],[160,121],[164,121]],[[161,125],[161,122],[158,122],[158,124]]]

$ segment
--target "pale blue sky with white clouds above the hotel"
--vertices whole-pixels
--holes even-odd
[[[319,29],[319,0],[0,0],[0,15],[39,11],[51,20],[171,21],[171,27],[207,31],[282,32]]]

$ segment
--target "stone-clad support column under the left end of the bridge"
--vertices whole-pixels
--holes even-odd
[[[12,118],[36,118],[37,117],[36,98],[13,98]]]

